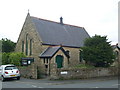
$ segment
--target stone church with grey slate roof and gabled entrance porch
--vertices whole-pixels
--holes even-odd
[[[36,66],[50,75],[53,68],[68,68],[82,63],[80,47],[89,38],[83,27],[30,16],[20,32],[16,52],[34,58]]]

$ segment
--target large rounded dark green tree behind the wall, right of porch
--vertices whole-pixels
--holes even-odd
[[[84,42],[83,59],[96,67],[108,67],[114,62],[113,49],[107,36],[95,35]]]

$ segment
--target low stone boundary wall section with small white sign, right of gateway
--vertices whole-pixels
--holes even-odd
[[[58,69],[57,75],[58,79],[86,79],[94,77],[117,76],[118,68]]]

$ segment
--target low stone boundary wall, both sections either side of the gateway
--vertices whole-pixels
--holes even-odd
[[[18,67],[20,74],[25,78],[38,78],[38,67],[34,64],[30,66]],[[95,77],[118,76],[117,67],[109,68],[53,68],[50,73],[50,79],[87,79]]]

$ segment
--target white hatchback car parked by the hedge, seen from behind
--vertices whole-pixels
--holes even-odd
[[[15,65],[1,65],[0,76],[2,81],[5,81],[7,78],[17,78],[17,80],[20,80],[20,71]]]

